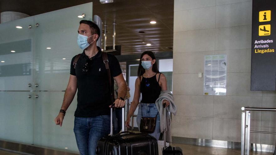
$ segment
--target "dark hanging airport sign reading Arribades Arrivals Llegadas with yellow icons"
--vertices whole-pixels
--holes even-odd
[[[252,3],[251,90],[276,90],[276,1]]]

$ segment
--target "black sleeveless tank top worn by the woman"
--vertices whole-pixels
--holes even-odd
[[[157,73],[156,73],[157,75]],[[159,79],[156,80],[156,75],[151,78],[145,78],[142,75],[142,81],[140,83],[140,91],[142,93],[141,103],[155,103],[161,93],[161,86],[159,85]]]

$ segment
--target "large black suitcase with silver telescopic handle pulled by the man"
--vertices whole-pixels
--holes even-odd
[[[124,110],[124,109],[123,109]],[[124,112],[123,112],[124,115]],[[125,116],[122,116],[122,124]],[[124,125],[123,125],[124,126]],[[124,131],[124,127],[122,128]],[[112,108],[110,136],[101,138],[96,147],[97,155],[158,155],[157,140],[146,133],[121,132],[113,135]]]

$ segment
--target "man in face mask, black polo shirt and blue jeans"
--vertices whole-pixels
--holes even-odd
[[[81,155],[95,155],[98,140],[110,133],[110,105],[113,102],[109,80],[114,85],[114,78],[118,84],[115,107],[125,106],[127,87],[119,61],[111,54],[107,54],[111,75],[109,79],[102,50],[96,45],[100,37],[98,26],[91,21],[82,20],[78,34],[77,44],[83,52],[72,58],[69,83],[55,122],[62,126],[66,110],[78,90],[74,121],[77,147]]]

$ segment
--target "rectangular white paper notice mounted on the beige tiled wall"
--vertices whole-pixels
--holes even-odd
[[[226,95],[226,54],[205,55],[204,95]]]

